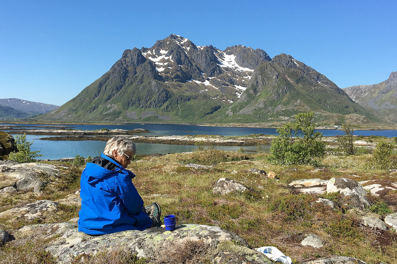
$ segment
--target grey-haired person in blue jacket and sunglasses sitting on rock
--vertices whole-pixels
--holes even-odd
[[[129,138],[115,136],[87,163],[80,180],[79,231],[102,235],[161,226],[160,206],[143,207],[131,181],[135,174],[125,169],[136,152]]]

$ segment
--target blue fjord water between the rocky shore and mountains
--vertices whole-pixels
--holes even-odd
[[[38,125],[26,125],[26,128],[36,128]],[[60,125],[62,126],[62,125]],[[67,125],[69,126],[69,125]],[[108,129],[135,129],[144,128],[150,130],[150,133],[139,133],[138,135],[169,135],[169,136],[182,136],[182,135],[221,135],[221,136],[246,136],[250,134],[265,134],[277,135],[276,128],[242,128],[242,127],[215,127],[215,126],[196,126],[196,125],[182,125],[182,124],[122,124],[122,125],[91,125],[91,124],[78,124],[70,125],[73,129],[77,130],[95,130],[101,128]],[[319,130],[324,136],[335,136],[340,133],[339,130]],[[12,132],[10,132],[12,133]],[[397,130],[357,130],[355,135],[363,136],[397,136]],[[15,135],[14,135],[15,136]],[[102,153],[106,142],[100,141],[52,141],[52,140],[39,140],[50,136],[42,135],[26,135],[27,140],[32,141],[32,151],[40,150],[43,156],[40,159],[61,159],[64,157],[75,157],[80,155],[83,157],[95,157]],[[194,151],[194,145],[168,145],[157,143],[136,143],[137,154],[154,154],[154,153],[176,153]],[[217,149],[237,151],[239,146],[219,146]],[[270,145],[263,145],[263,151],[269,151]],[[255,151],[256,146],[243,147],[245,151]]]

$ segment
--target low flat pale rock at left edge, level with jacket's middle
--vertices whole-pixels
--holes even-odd
[[[13,209],[0,212],[0,218],[11,217],[13,218],[24,218],[26,220],[34,220],[41,218],[44,212],[53,212],[58,210],[58,203],[54,201],[41,200],[33,203],[27,203]]]

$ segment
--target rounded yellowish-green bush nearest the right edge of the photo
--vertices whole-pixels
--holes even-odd
[[[394,153],[394,145],[384,140],[378,141],[372,159],[370,159],[370,167],[373,169],[387,170],[392,166],[391,155]]]

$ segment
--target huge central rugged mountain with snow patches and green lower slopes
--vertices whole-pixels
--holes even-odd
[[[102,77],[40,117],[264,122],[309,109],[318,120],[378,121],[328,78],[290,55],[271,59],[264,50],[241,45],[222,51],[171,34],[151,48],[125,50]]]

